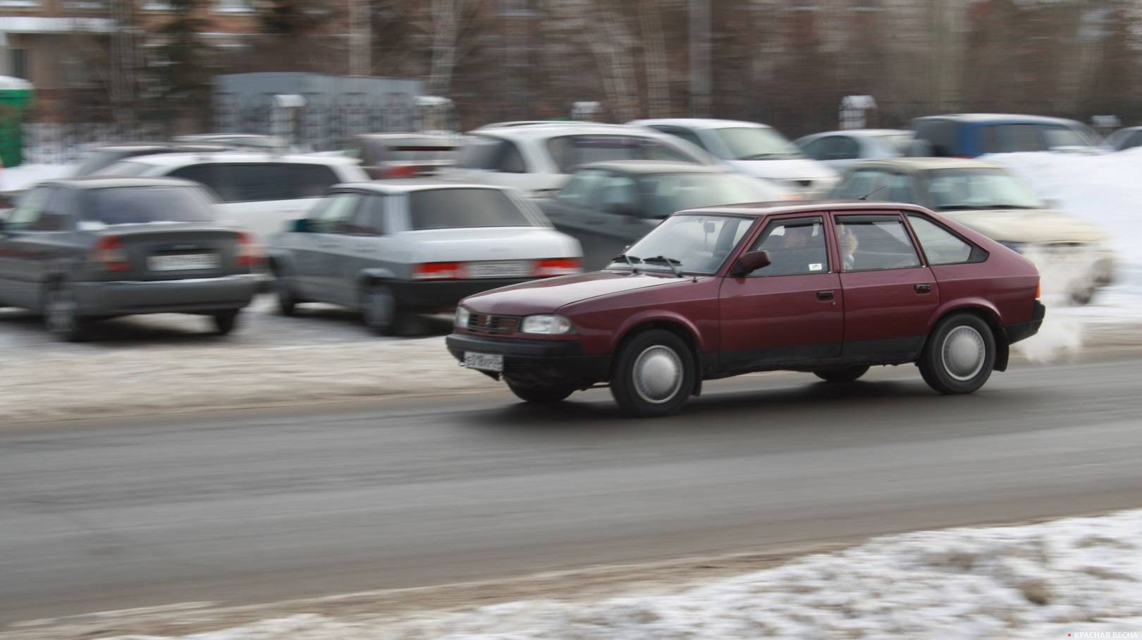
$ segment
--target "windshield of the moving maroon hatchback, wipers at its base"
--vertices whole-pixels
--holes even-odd
[[[754,218],[717,213],[671,216],[606,268],[709,275],[722,266]]]

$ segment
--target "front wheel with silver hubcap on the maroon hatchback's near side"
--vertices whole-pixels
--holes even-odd
[[[611,395],[627,415],[673,415],[690,398],[697,374],[686,343],[656,329],[635,335],[619,351],[611,372]]]

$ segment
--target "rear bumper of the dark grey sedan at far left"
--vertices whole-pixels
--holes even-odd
[[[85,316],[210,313],[241,309],[258,286],[254,274],[167,281],[80,282],[72,285]]]

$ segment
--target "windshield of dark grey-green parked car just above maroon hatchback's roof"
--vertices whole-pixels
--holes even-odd
[[[659,173],[638,179],[646,217],[666,218],[675,211],[782,200],[786,194],[757,178],[735,173]]]

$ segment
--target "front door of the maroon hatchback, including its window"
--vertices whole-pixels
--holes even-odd
[[[845,297],[829,261],[825,216],[771,218],[750,251],[771,264],[727,276],[719,295],[721,368],[777,368],[841,355]]]

